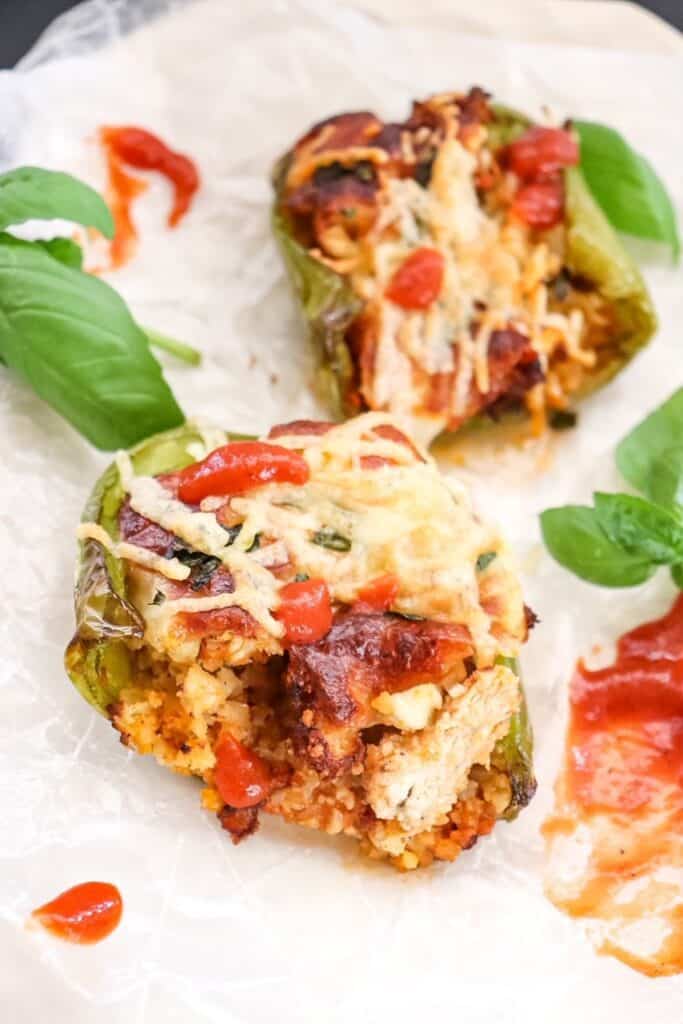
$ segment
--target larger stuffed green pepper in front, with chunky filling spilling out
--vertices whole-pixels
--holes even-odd
[[[67,669],[140,754],[401,869],[531,798],[498,532],[387,414],[256,440],[193,425],[119,453],[78,528]]]

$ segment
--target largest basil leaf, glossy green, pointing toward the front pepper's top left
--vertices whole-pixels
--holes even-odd
[[[0,356],[97,447],[183,422],[123,299],[30,243],[0,245]]]

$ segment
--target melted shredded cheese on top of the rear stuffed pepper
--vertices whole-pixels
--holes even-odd
[[[478,144],[485,139],[482,128]],[[582,347],[582,313],[547,309],[545,282],[560,270],[560,256],[545,242],[532,244],[523,224],[483,209],[475,187],[477,166],[477,155],[452,136],[437,148],[427,188],[413,179],[385,180],[368,252],[350,274],[375,332],[373,374],[364,383],[364,396],[373,409],[410,415],[413,432],[426,442],[466,415],[473,386],[480,395],[489,392],[490,335],[512,322],[544,367],[558,347],[582,367],[595,364],[595,353]],[[384,296],[391,275],[421,246],[441,253],[444,281],[432,307],[415,313]],[[450,372],[455,372],[450,402],[436,414],[428,411],[427,375]]]

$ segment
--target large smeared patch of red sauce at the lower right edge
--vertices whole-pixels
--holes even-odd
[[[544,824],[546,892],[590,919],[599,951],[650,977],[683,971],[683,595],[577,667],[566,762]]]

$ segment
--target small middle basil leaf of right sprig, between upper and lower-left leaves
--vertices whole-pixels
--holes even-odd
[[[634,495],[593,495],[595,514],[612,544],[657,565],[683,561],[683,521]]]

